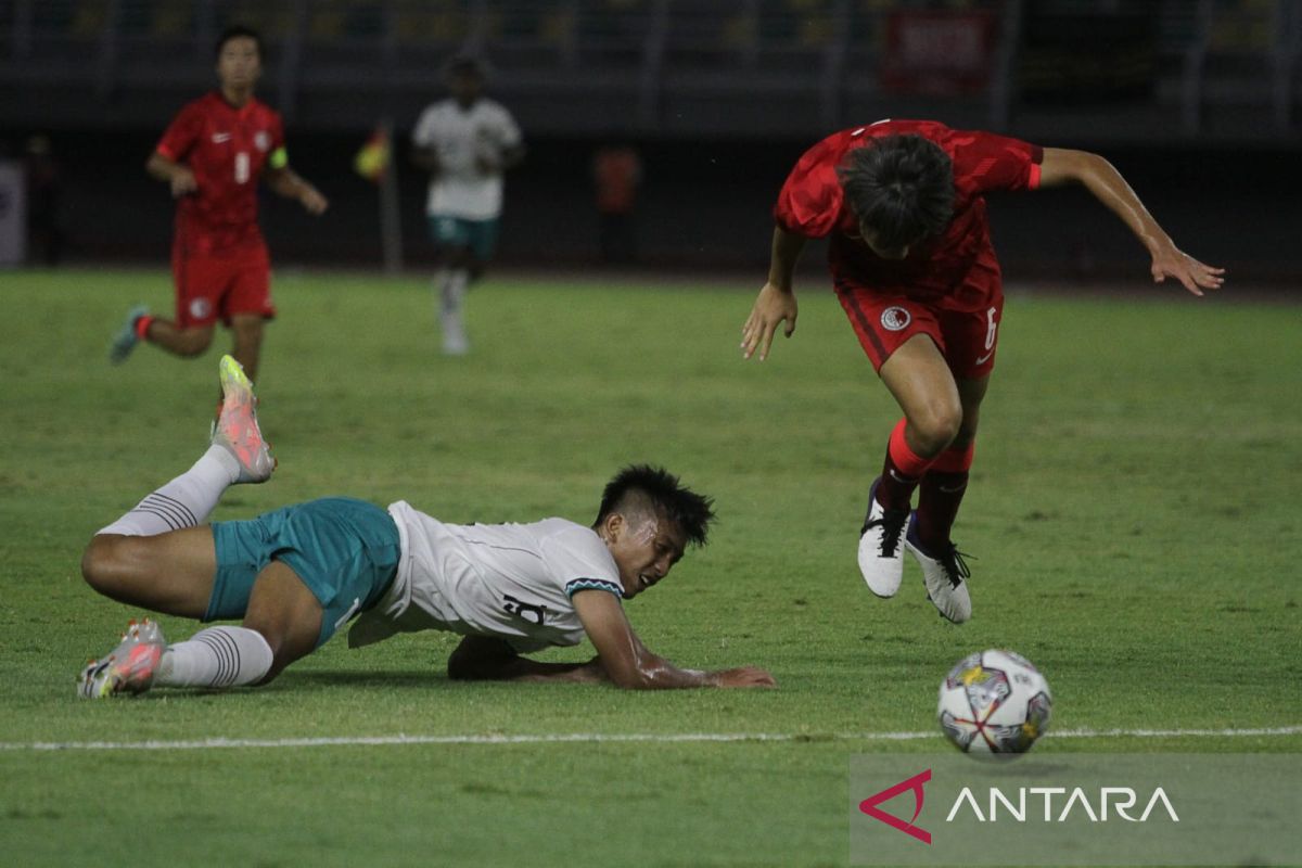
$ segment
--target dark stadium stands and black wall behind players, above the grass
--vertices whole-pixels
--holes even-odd
[[[928,17],[979,39],[907,49],[900,33]],[[352,165],[381,117],[405,262],[431,262],[406,137],[444,95],[440,65],[469,48],[529,146],[506,180],[504,265],[595,263],[591,159],[618,142],[644,163],[635,267],[758,276],[772,200],[806,147],[928,117],[1101,152],[1190,254],[1241,281],[1288,289],[1302,275],[1297,0],[0,0],[0,148],[22,159],[48,135],[62,262],[167,262],[172,202],[143,164],[215,82],[212,40],[234,21],[263,30],[259,96],[332,203],[314,220],[264,195],[280,265],[380,264],[378,187]],[[1146,272],[1082,190],[990,206],[1010,278]]]

